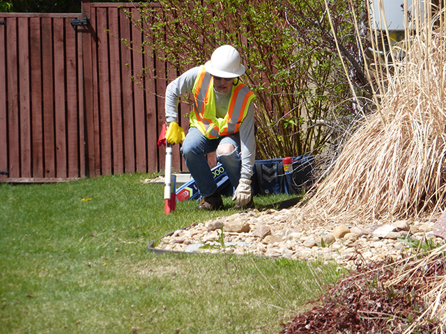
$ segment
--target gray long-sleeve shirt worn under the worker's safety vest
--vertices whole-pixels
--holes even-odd
[[[195,79],[199,75],[200,67],[193,67],[184,72],[180,77],[172,81],[166,89],[166,121],[176,122],[178,118],[178,103],[180,97],[186,93],[192,93]],[[231,90],[227,93],[215,92],[215,107],[217,118],[224,118],[228,112],[229,99],[231,97]],[[240,152],[242,154],[242,169],[240,177],[247,179],[252,176],[252,166],[256,159],[256,141],[254,138],[254,106],[249,104],[247,116],[240,124]]]

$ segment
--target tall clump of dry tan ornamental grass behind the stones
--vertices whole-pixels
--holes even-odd
[[[426,10],[417,10],[422,2]],[[406,39],[369,64],[377,111],[346,143],[296,220],[392,221],[446,207],[446,14],[443,5],[432,18],[429,7],[414,0]],[[381,33],[371,31],[377,47]]]

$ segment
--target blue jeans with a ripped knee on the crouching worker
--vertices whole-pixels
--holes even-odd
[[[226,175],[228,175],[229,181],[235,189],[238,186],[238,180],[240,180],[240,169],[242,167],[240,135],[238,133],[217,139],[208,139],[201,134],[199,129],[190,127],[181,147],[187,169],[203,197],[211,196],[217,191],[217,183],[215,183],[210,171],[206,154],[217,151],[218,146],[222,143],[230,143],[236,148],[231,154],[220,155],[217,152],[217,161],[223,165]]]

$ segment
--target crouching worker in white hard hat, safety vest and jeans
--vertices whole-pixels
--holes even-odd
[[[223,201],[206,160],[206,154],[217,152],[235,192],[236,208],[254,207],[251,190],[256,142],[252,93],[240,82],[245,67],[240,54],[223,45],[215,49],[210,61],[194,67],[172,81],[166,89],[166,139],[180,143],[178,102],[185,93],[193,94],[194,110],[181,153],[198,186],[202,200],[197,209],[222,209]],[[169,140],[170,138],[170,140]],[[176,140],[176,138],[180,138]]]

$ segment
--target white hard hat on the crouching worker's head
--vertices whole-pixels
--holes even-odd
[[[245,66],[240,64],[240,54],[231,45],[218,47],[204,64],[206,72],[221,78],[240,77],[245,73]]]

